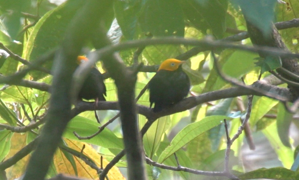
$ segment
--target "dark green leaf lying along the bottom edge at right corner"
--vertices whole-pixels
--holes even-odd
[[[260,168],[244,174],[235,174],[240,180],[246,179],[276,179],[276,180],[294,180],[299,179],[299,172],[292,171],[283,167]]]

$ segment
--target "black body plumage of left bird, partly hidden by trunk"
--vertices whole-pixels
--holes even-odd
[[[97,68],[92,68],[82,85],[79,98],[86,100],[98,98],[100,101],[106,101],[104,95],[106,96],[106,86],[103,75]]]

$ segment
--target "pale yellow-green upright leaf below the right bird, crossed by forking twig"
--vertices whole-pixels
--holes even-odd
[[[143,115],[138,115],[139,129],[141,129],[146,123],[147,119]],[[150,126],[149,130],[143,136],[144,150],[149,158],[158,150],[161,143],[161,138],[165,131],[169,129],[171,124],[170,116],[164,116],[157,120]]]

